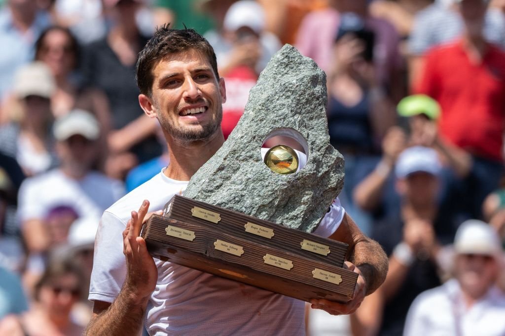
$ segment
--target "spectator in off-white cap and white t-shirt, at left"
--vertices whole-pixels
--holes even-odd
[[[59,118],[54,135],[60,166],[25,180],[19,191],[18,216],[33,258],[46,252],[57,238],[65,241],[75,219],[98,220],[124,193],[121,182],[91,170],[99,126],[89,112],[74,110]],[[51,236],[49,230],[60,234]],[[38,267],[43,264],[39,262]]]

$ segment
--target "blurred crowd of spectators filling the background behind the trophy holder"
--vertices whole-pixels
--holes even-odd
[[[135,81],[169,22],[216,51],[225,138],[284,43],[326,73],[339,198],[390,265],[308,334],[505,335],[503,0],[0,0],[0,334],[82,333],[99,217],[169,163]]]

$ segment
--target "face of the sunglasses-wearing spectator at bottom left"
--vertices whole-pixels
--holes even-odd
[[[54,315],[68,315],[79,300],[81,290],[79,279],[68,273],[47,281],[40,287],[38,301],[47,312]]]

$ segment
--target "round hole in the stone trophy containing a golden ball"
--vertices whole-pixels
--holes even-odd
[[[302,169],[309,156],[309,146],[300,132],[293,128],[277,128],[269,133],[262,145],[263,162],[279,174],[292,174]]]

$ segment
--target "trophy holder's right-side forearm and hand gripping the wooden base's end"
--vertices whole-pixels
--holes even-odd
[[[386,279],[388,260],[382,247],[361,232],[356,223],[344,215],[338,229],[329,237],[349,245],[344,267],[359,274],[354,296],[347,303],[325,299],[312,300],[312,308],[323,309],[332,315],[351,314],[358,309],[366,295],[373,293]]]

